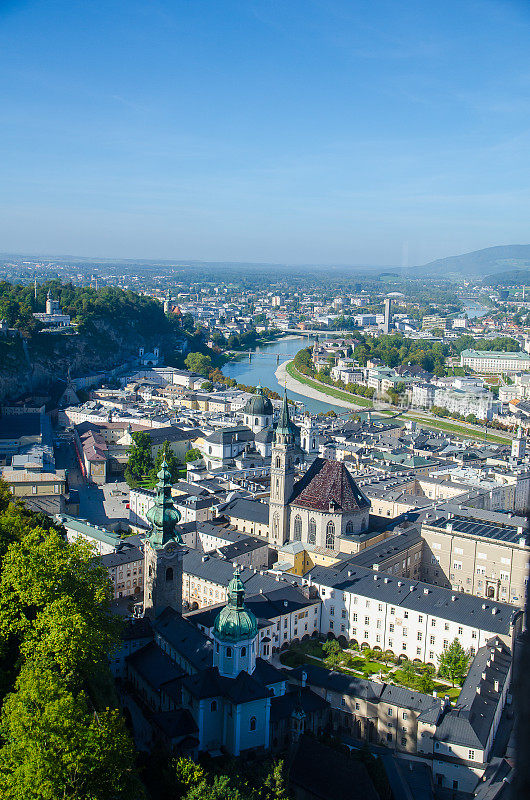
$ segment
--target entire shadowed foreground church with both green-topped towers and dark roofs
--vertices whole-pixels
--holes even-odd
[[[165,462],[157,477],[144,543],[145,616],[124,640],[126,708],[149,721],[153,746],[159,739],[192,756],[284,749],[304,731],[319,732],[329,704],[308,687],[289,691],[285,674],[258,656],[239,569],[211,639],[182,616],[185,547]]]

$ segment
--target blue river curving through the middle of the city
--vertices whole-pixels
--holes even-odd
[[[277,356],[279,356],[279,363],[281,364],[282,361],[293,358],[303,347],[307,347],[307,343],[307,336],[286,336],[282,339],[277,339],[275,342],[260,345],[252,353],[252,361],[249,362],[248,356],[241,359],[241,361],[229,361],[223,367],[223,373],[229,378],[234,378],[238,383],[244,383],[246,386],[256,386],[261,382],[262,386],[282,394],[283,386],[278,383],[278,379],[274,374],[278,369]],[[311,343],[313,343],[313,339],[311,339]],[[295,392],[290,391],[289,398],[300,401],[312,413],[325,412],[330,409],[337,413],[344,412],[343,408],[334,406],[332,403],[313,400],[311,397],[296,394]]]

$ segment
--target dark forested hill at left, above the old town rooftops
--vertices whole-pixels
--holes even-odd
[[[76,333],[42,333],[33,317],[44,311],[48,291],[75,323]],[[168,363],[186,334],[175,315],[149,297],[114,287],[95,290],[53,281],[37,287],[0,282],[0,319],[20,337],[0,336],[0,399],[54,382],[110,369],[131,359],[139,347],[160,347]]]

